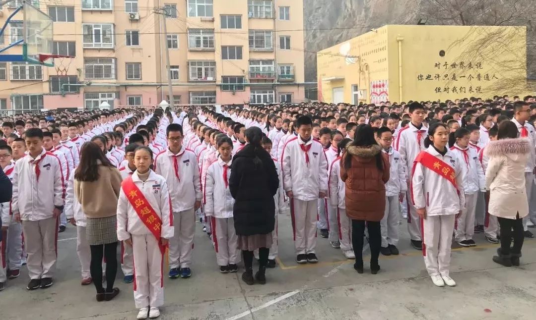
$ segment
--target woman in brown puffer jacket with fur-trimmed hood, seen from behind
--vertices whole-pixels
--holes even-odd
[[[370,272],[379,270],[382,245],[379,222],[385,210],[385,183],[389,180],[389,159],[374,139],[373,128],[360,125],[355,139],[341,157],[340,177],[346,185],[346,215],[352,219],[354,269],[363,273],[365,223],[369,233]]]

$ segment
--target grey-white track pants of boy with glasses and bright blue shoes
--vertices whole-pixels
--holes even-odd
[[[175,234],[169,239],[169,268],[190,268],[193,252],[193,235],[196,232],[196,215],[193,208],[173,212]]]

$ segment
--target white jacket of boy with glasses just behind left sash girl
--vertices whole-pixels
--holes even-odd
[[[174,157],[177,159],[177,172],[175,172]],[[192,150],[182,146],[181,151],[176,155],[169,149],[162,151],[154,159],[154,172],[166,179],[171,191],[173,212],[189,210],[194,207],[196,201],[201,201],[199,167],[196,154]]]

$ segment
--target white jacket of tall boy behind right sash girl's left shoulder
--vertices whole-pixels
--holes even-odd
[[[420,141],[417,140],[420,132]],[[427,137],[427,127],[422,125],[420,129],[416,128],[411,122],[400,129],[397,140],[394,143],[394,149],[400,153],[402,163],[406,167],[408,176],[413,168],[413,161],[417,155],[425,149],[425,139]]]

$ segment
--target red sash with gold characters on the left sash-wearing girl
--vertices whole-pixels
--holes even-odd
[[[162,246],[160,242],[160,231],[162,228],[162,220],[157,215],[157,212],[151,207],[151,204],[145,199],[145,196],[140,191],[134,181],[132,181],[132,176],[127,177],[123,180],[121,184],[123,192],[126,195],[126,199],[129,200],[132,208],[138,214],[138,217],[145,226],[151,231],[154,235],[154,238],[157,238],[158,246],[160,247],[160,252],[163,254],[166,252],[166,246]]]

